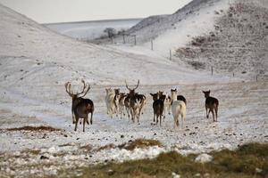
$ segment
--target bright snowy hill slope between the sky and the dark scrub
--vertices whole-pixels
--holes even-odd
[[[173,14],[148,17],[128,33],[137,35],[138,44],[154,40],[155,50],[166,45],[164,49],[169,50],[187,43],[189,36],[213,28],[214,10],[224,10],[228,3],[228,0],[194,0]]]

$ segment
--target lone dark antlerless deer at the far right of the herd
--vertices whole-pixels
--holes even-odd
[[[210,112],[213,113],[213,117],[214,115],[216,115],[216,120],[214,119],[214,121],[218,120],[218,107],[219,107],[219,101],[214,98],[209,96],[210,94],[210,90],[209,91],[202,91],[205,94],[205,112],[206,112],[206,118],[208,118],[208,115]],[[207,109],[208,113],[207,113]]]

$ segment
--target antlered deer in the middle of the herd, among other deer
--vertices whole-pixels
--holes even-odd
[[[136,87],[133,89],[131,89],[128,86],[127,81],[125,81],[125,83],[126,83],[127,89],[130,92],[127,98],[125,99],[125,101],[129,102],[127,104],[129,104],[131,119],[133,122],[135,122],[135,118],[137,117],[138,123],[139,123],[138,113],[140,110],[141,101],[138,100],[137,93],[135,93],[135,90],[138,88],[138,85],[139,85],[139,80],[138,80],[138,85],[136,85]]]

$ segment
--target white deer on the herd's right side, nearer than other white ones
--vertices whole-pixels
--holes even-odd
[[[179,126],[179,120],[181,118],[181,125],[183,127],[183,122],[186,116],[186,104],[184,101],[179,101],[177,99],[177,90],[172,90],[172,115],[174,118],[174,128]]]

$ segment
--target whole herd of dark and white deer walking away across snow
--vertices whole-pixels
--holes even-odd
[[[83,118],[83,132],[85,132],[85,124],[88,122],[88,114],[90,116],[90,124],[92,125],[92,117],[94,112],[94,103],[89,99],[83,98],[89,91],[90,85],[86,85],[85,81],[81,81],[83,84],[83,89],[80,93],[73,93],[71,91],[71,83],[67,82],[65,84],[66,92],[71,96],[71,116],[72,122],[75,124],[74,131],[77,130],[78,122],[80,118]],[[143,114],[143,109],[146,105],[147,97],[144,94],[136,93],[135,90],[138,88],[136,85],[133,89],[129,87],[126,83],[126,88],[129,90],[129,93],[120,93],[120,89],[106,88],[105,103],[107,107],[107,114],[110,117],[113,117],[113,114],[117,116],[127,115],[133,122],[137,119],[139,123],[140,114]],[[205,112],[206,117],[208,118],[209,113],[212,112],[214,121],[217,121],[218,117],[218,106],[219,101],[210,96],[210,91],[203,91],[205,94]],[[178,95],[177,89],[171,89],[171,96],[168,94],[163,94],[159,91],[157,93],[150,93],[153,97],[153,109],[154,109],[154,122],[156,118],[156,125],[158,124],[158,119],[160,125],[162,123],[162,117],[165,118],[166,112],[171,114],[174,118],[174,127],[179,126],[179,119],[181,119],[181,125],[186,116],[186,106],[187,101],[184,96]],[[81,123],[81,121],[80,121]]]

